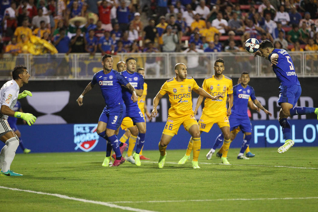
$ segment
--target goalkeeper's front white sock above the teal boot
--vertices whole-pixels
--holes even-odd
[[[5,144],[7,148],[4,151],[4,161],[1,169],[2,172],[7,172],[8,170],[10,170],[11,163],[14,159],[14,156],[16,155],[16,150],[19,146],[19,141],[15,137],[13,137],[6,140]]]

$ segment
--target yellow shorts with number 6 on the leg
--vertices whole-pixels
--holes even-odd
[[[194,117],[194,114],[185,115],[179,118],[168,117],[166,126],[164,127],[162,134],[171,136],[176,135],[181,124],[183,124],[184,129],[188,131],[192,125],[197,125],[198,122]]]

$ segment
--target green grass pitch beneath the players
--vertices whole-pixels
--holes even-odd
[[[219,164],[214,155],[206,160],[209,150],[202,149],[201,169],[192,169],[192,159],[178,165],[185,150],[169,147],[162,169],[159,151],[144,151],[150,161],[141,167],[125,162],[107,168],[103,152],[17,154],[11,169],[24,176],[0,177],[1,210],[318,211],[318,147],[284,154],[251,149],[256,156],[250,160],[236,159],[239,149],[230,149],[232,165]]]

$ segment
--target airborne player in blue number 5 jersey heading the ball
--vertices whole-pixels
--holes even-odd
[[[259,44],[259,51],[254,53],[254,57],[257,55],[271,62],[273,71],[280,82],[278,104],[281,108],[278,120],[282,127],[285,144],[279,147],[277,152],[284,153],[294,145],[287,117],[315,113],[318,119],[318,108],[295,107],[301,95],[301,86],[294,69],[293,60],[286,50],[274,49],[272,42],[263,40]]]

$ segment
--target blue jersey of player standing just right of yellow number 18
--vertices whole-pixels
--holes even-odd
[[[256,99],[254,88],[252,86],[247,85],[246,88],[241,84],[233,86],[232,114],[247,116],[247,105],[250,97],[252,100]]]

